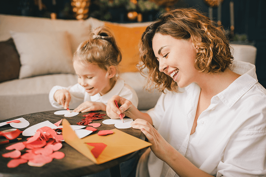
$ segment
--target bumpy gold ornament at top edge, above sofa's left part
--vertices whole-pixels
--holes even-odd
[[[88,18],[90,4],[91,0],[71,0],[72,11],[77,20]]]

